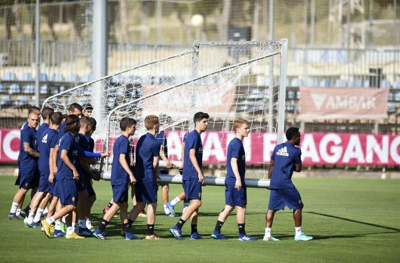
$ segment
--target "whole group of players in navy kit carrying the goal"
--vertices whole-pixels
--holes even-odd
[[[40,114],[43,124],[36,131]],[[191,227],[189,239],[203,239],[197,232],[198,210],[201,206],[204,183],[200,134],[207,129],[208,118],[207,113],[197,112],[193,117],[194,129],[187,132],[183,138],[180,167],[183,168],[183,192],[171,202],[167,202],[169,188],[167,185],[162,185],[166,216],[176,216],[174,206],[184,200],[183,213],[176,225],[169,230],[177,240],[183,239],[182,227],[189,219]],[[21,208],[25,194],[32,189],[30,211],[24,219],[27,228],[41,226],[48,238],[96,237],[105,240],[104,230],[119,211],[123,227],[122,236],[126,240],[139,240],[141,238],[132,232],[132,224],[147,205],[145,239],[158,240],[159,236],[154,233],[158,187],[156,180],[157,174],[161,171],[161,174],[168,173],[168,170],[158,168],[159,159],[165,161],[167,168],[172,167],[167,158],[165,134],[159,131],[158,117],[155,115],[145,117],[144,126],[147,133],[136,143],[135,160],[132,158],[133,146],[129,143],[129,137],[134,135],[136,121],[128,117],[120,121],[121,136],[115,141],[112,150],[112,202],[96,230],[91,226],[90,209],[95,201],[92,180],[98,178],[90,170],[89,165],[96,162],[95,158],[104,158],[108,155],[93,153],[94,141],[90,136],[95,130],[95,125],[93,118],[82,116],[82,107],[76,103],[70,105],[64,120],[61,113],[53,112],[48,107],[44,107],[41,112],[36,107],[29,109],[28,120],[21,128],[19,172],[15,182],[19,189],[12,201],[8,219],[22,218]],[[221,234],[221,227],[228,215],[237,208],[238,240],[256,241],[245,232],[247,196],[244,180],[245,151],[242,141],[250,130],[247,121],[243,119],[234,120],[233,130],[235,138],[230,141],[227,148],[225,207],[219,214],[210,237],[216,240],[227,239]],[[301,151],[296,147],[300,142],[298,128],[289,128],[286,131],[286,138],[287,142],[277,145],[273,150],[268,170],[270,198],[265,216],[264,241],[278,241],[271,236],[271,226],[275,212],[283,210],[285,206],[293,210],[294,240],[312,239],[301,230],[303,203],[291,182],[293,171],[301,171]],[[129,187],[132,188],[136,201],[130,212],[127,210]],[[38,190],[33,191],[36,188]],[[49,202],[46,218],[40,221]]]

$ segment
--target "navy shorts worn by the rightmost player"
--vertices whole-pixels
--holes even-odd
[[[268,209],[283,210],[285,206],[293,210],[303,207],[297,189],[294,186],[292,188],[270,189]]]

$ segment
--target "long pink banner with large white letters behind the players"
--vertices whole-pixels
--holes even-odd
[[[0,162],[15,162],[19,151],[19,129],[0,130]],[[183,131],[167,131],[168,156],[179,161]],[[226,148],[234,138],[231,132],[204,132],[203,164],[225,164]],[[244,138],[247,164],[269,163],[276,134],[250,133]],[[112,142],[110,149],[112,149]],[[96,145],[100,145],[100,142]],[[304,165],[400,165],[400,135],[305,133],[301,135]],[[98,147],[96,147],[96,150]]]

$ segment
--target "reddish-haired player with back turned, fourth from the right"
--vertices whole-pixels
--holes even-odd
[[[148,115],[144,118],[147,133],[136,144],[136,163],[134,176],[137,180],[134,188],[136,206],[130,211],[129,219],[133,222],[147,204],[146,239],[159,239],[154,234],[155,211],[157,209],[157,169],[160,144],[155,139],[159,130],[158,117]],[[115,201],[115,199],[114,199]]]

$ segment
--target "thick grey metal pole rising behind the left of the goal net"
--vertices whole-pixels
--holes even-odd
[[[108,56],[108,33],[107,33],[107,1],[93,0],[93,35],[92,35],[92,57],[91,57],[91,78],[99,79],[107,75],[107,56]],[[93,107],[93,118],[97,121],[102,119],[105,114],[102,108],[105,104],[105,96],[102,87],[105,81],[96,82],[92,86],[92,97],[90,99]]]

